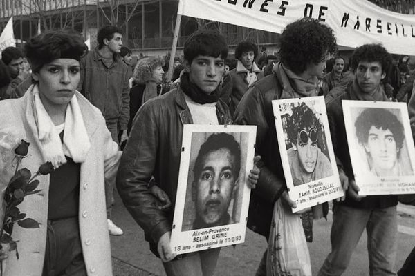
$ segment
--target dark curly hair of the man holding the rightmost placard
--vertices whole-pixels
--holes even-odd
[[[365,44],[351,55],[351,68],[356,71],[360,61],[378,62],[382,66],[382,72],[389,72],[392,65],[392,57],[387,50],[380,44]]]

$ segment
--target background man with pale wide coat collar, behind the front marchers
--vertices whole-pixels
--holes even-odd
[[[235,49],[235,58],[237,67],[229,71],[232,79],[232,92],[230,94],[230,110],[234,112],[239,101],[248,86],[251,86],[255,81],[264,77],[264,71],[258,68],[255,59],[258,55],[257,46],[250,41],[242,41]],[[226,83],[223,84],[226,86]]]

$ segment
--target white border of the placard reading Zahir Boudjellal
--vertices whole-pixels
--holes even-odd
[[[327,149],[329,151],[329,159],[333,175],[331,175],[330,177],[324,177],[323,179],[317,179],[315,181],[308,182],[307,184],[294,186],[293,177],[291,176],[291,169],[288,161],[285,135],[282,124],[282,115],[286,114],[286,112],[280,111],[279,106],[284,103],[307,103],[310,101],[314,101],[316,104],[318,104],[322,112],[322,114],[320,115],[320,123],[324,128],[324,136],[326,137],[326,144]],[[284,169],[286,185],[288,188],[288,195],[297,204],[297,208],[293,208],[293,213],[344,196],[344,191],[342,189],[342,185],[340,184],[337,164],[335,162],[333,145],[331,143],[329,121],[327,119],[324,97],[319,96],[295,99],[279,99],[272,101],[272,103],[275,116],[275,128],[277,130],[279,152],[281,155],[282,166]]]

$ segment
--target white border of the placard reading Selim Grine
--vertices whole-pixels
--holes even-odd
[[[185,208],[185,197],[187,189],[187,178],[190,166],[190,150],[192,146],[192,133],[194,132],[226,132],[247,133],[248,148],[246,148],[246,170],[245,177],[239,179],[239,187],[243,187],[241,204],[241,219],[239,223],[203,228],[197,230],[182,231],[183,213]],[[196,125],[186,124],[183,127],[183,142],[178,174],[178,186],[176,195],[176,206],[172,226],[172,237],[170,246],[174,253],[183,254],[210,248],[241,244],[245,242],[246,222],[250,200],[250,188],[248,188],[249,171],[253,168],[255,155],[255,139],[257,126],[230,126],[230,125]],[[243,183],[241,183],[243,181]]]

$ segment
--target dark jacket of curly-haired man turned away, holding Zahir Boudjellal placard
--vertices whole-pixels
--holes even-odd
[[[275,74],[268,75],[248,89],[234,114],[235,124],[257,126],[255,155],[261,155],[261,172],[251,193],[248,228],[266,237],[275,201],[286,190],[271,101],[283,94],[293,98],[292,91],[290,83],[279,83]]]

